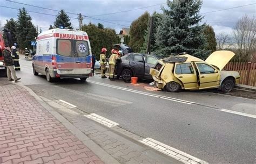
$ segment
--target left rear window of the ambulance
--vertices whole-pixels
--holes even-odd
[[[58,39],[57,40],[57,54],[62,56],[71,55],[71,40],[68,39]]]

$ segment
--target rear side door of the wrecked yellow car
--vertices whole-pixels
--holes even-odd
[[[198,80],[196,70],[191,62],[176,63],[174,68],[174,76],[183,83],[184,89],[198,88]]]

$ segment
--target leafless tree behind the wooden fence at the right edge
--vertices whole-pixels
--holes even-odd
[[[238,20],[233,30],[234,45],[238,47],[238,60],[250,61],[256,47],[255,17],[244,16]]]

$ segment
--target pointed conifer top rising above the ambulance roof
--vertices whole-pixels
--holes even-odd
[[[62,9],[59,11],[58,15],[56,16],[54,27],[59,28],[59,26],[68,27],[69,29],[73,29],[71,26],[70,18]]]

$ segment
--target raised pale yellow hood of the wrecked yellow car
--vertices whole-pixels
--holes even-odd
[[[223,69],[235,54],[231,51],[215,51],[205,60],[210,65]]]

